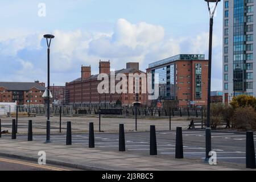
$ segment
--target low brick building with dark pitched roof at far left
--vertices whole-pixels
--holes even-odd
[[[17,102],[18,105],[45,104],[45,84],[35,82],[0,82],[0,102]]]

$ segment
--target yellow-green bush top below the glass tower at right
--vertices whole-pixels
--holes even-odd
[[[237,109],[239,107],[246,107],[251,106],[256,110],[256,98],[254,96],[237,96],[233,97],[232,101],[230,102],[230,105]]]

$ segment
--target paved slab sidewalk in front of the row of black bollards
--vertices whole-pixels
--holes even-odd
[[[18,136],[17,136],[18,137]],[[130,152],[104,151],[87,145],[65,146],[0,138],[0,156],[38,161],[38,152],[46,152],[46,162],[85,170],[246,170],[245,165],[218,163],[210,166],[195,159],[174,159],[171,156],[134,155]]]

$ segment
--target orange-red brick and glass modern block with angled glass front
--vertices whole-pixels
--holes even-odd
[[[168,57],[150,64],[147,73],[159,74],[159,100],[178,100],[180,107],[207,105],[208,60],[204,55]]]

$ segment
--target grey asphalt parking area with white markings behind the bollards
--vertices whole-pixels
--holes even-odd
[[[118,151],[118,133],[95,134],[95,147],[106,151]],[[3,135],[3,137],[7,137]],[[10,135],[8,137],[11,137]],[[158,131],[156,140],[158,155],[175,156],[176,131]],[[27,140],[26,135],[17,135],[19,140]],[[46,135],[34,135],[38,142],[45,142]],[[51,135],[52,143],[65,145],[65,134]],[[133,132],[126,133],[126,151],[149,155],[150,133]],[[254,135],[256,141],[256,135]],[[73,134],[72,145],[88,147],[88,134]],[[183,130],[184,158],[205,158],[205,131]],[[212,150],[217,152],[217,161],[245,164],[246,136],[239,133],[212,131]],[[255,142],[256,146],[256,142]]]

